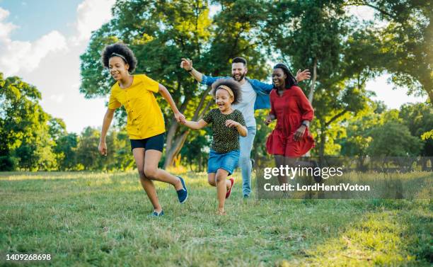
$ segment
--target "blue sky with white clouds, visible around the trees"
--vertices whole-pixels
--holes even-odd
[[[0,0],[0,72],[21,76],[42,93],[42,108],[62,118],[69,132],[100,127],[105,98],[85,99],[79,93],[79,56],[86,50],[92,30],[111,18],[115,0]],[[371,8],[351,8],[360,19],[373,18]],[[270,66],[271,67],[271,66]],[[426,97],[392,90],[387,75],[369,81],[374,99],[389,108]]]

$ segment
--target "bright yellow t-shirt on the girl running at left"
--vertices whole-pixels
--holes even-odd
[[[120,88],[118,82],[111,87],[108,108],[125,106],[130,139],[144,139],[166,132],[163,113],[154,96],[157,92],[158,81],[144,74],[134,75],[128,88]]]

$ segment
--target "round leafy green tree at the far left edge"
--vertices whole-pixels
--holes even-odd
[[[54,169],[50,115],[39,104],[40,91],[20,78],[0,73],[0,166],[14,169]]]

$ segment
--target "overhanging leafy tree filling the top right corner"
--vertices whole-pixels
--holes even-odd
[[[433,5],[425,0],[351,0],[347,5],[369,6],[386,26],[376,28],[381,56],[397,86],[426,94],[433,103]],[[386,59],[383,61],[383,59]]]

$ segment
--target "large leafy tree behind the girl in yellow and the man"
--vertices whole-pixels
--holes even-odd
[[[112,80],[100,64],[100,52],[112,42],[122,41],[134,50],[137,73],[145,73],[165,85],[188,119],[198,120],[214,103],[209,88],[202,89],[183,69],[180,58],[190,57],[205,74],[229,74],[229,59],[243,56],[255,65],[251,74],[265,76],[264,59],[258,52],[255,30],[265,18],[260,1],[214,1],[217,13],[209,16],[209,1],[117,1],[114,18],[93,33],[81,55],[80,91],[87,98],[105,96]],[[166,115],[166,164],[174,163],[189,130],[180,127],[168,105],[160,101]],[[125,118],[118,113],[116,118]],[[120,120],[122,124],[123,120]]]

